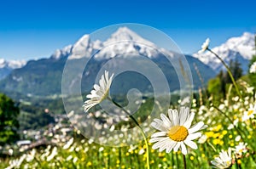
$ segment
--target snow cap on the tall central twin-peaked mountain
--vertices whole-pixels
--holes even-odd
[[[97,53],[100,50],[99,53]],[[109,59],[121,54],[143,55],[153,58],[158,54],[169,54],[171,52],[158,48],[153,42],[140,37],[134,31],[127,27],[120,27],[105,42],[100,40],[91,41],[90,35],[84,35],[66,48],[58,49],[51,58],[60,59],[62,56],[68,56],[68,59],[90,58],[95,54],[95,59]]]

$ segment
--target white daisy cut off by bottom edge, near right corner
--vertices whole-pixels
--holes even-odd
[[[220,169],[229,168],[232,165],[231,148],[228,149],[228,152],[222,149],[218,157],[211,163]]]

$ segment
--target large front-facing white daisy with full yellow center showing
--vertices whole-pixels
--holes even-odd
[[[189,108],[181,107],[180,113],[177,110],[168,110],[168,117],[164,114],[160,115],[160,119],[154,119],[151,126],[160,132],[152,134],[150,143],[155,143],[152,149],[159,149],[166,153],[170,153],[172,149],[177,152],[181,149],[183,155],[187,155],[188,151],[185,146],[188,145],[192,149],[197,149],[197,145],[193,141],[201,137],[198,132],[204,127],[204,122],[200,121],[191,127],[195,113],[189,113]]]

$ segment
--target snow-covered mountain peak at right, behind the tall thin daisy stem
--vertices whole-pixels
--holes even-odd
[[[227,42],[212,48],[212,51],[224,59],[227,64],[229,64],[231,59],[237,59],[241,63],[242,69],[247,71],[248,60],[252,59],[253,54],[255,54],[254,35],[244,32],[241,37],[231,37]],[[193,56],[217,72],[224,68],[220,61],[209,51],[204,54],[196,53]]]

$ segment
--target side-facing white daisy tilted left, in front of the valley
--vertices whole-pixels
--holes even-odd
[[[105,74],[102,75],[99,85],[95,84],[94,89],[91,90],[90,94],[86,96],[88,100],[84,102],[84,111],[90,110],[96,104],[100,104],[104,99],[108,97],[109,88],[113,80],[112,76],[108,77],[108,71],[105,70]]]

